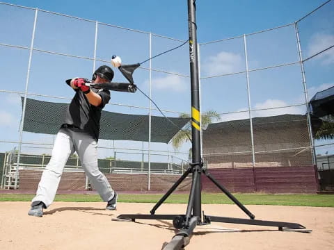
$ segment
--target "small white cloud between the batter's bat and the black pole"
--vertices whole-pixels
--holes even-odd
[[[167,75],[152,79],[152,88],[157,90],[171,90],[174,92],[184,92],[189,85],[187,78],[176,75]]]

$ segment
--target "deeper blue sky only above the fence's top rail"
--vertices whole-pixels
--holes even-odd
[[[65,15],[187,39],[187,1],[4,1]],[[198,42],[230,38],[291,23],[324,0],[198,0]]]

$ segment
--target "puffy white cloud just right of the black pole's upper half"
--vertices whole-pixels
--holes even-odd
[[[244,70],[244,60],[237,53],[221,51],[216,56],[209,56],[202,69],[209,76],[240,72]]]

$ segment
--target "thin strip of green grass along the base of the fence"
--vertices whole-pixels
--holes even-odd
[[[119,202],[156,203],[162,194],[119,194]],[[187,203],[188,194],[171,194],[165,203]],[[334,207],[333,194],[234,194],[244,205]],[[0,201],[31,201],[33,194],[0,194]],[[55,201],[102,201],[97,194],[59,194]],[[225,194],[202,194],[203,204],[232,204]]]

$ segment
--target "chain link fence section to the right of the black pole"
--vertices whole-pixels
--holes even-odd
[[[201,110],[221,114],[202,132],[203,156],[228,188],[317,190],[314,166],[334,147],[313,135],[308,101],[334,85],[333,14],[327,1],[292,24],[200,44]]]

